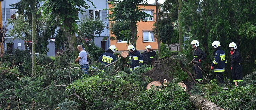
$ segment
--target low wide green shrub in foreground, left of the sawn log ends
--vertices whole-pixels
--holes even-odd
[[[83,79],[76,80],[70,84],[66,91],[68,94],[73,94],[75,91],[82,99],[86,99],[90,103],[80,101],[75,97],[71,97],[81,104],[83,109],[106,109],[114,107],[118,100],[128,101],[142,89],[144,89],[144,82],[135,74],[118,74],[127,78],[117,78],[114,76],[91,76],[83,77]],[[104,99],[104,100],[102,100]]]

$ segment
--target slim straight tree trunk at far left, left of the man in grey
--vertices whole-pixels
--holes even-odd
[[[36,0],[32,3],[32,75],[36,74]]]

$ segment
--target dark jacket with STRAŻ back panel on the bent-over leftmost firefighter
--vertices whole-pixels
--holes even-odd
[[[110,64],[116,61],[116,57],[111,52],[105,52],[99,57],[99,62],[104,64]]]

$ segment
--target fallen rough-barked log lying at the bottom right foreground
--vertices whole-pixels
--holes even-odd
[[[224,110],[217,104],[206,100],[199,95],[191,96],[190,101],[192,101],[192,105],[199,110]]]

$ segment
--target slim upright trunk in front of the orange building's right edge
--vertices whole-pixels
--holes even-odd
[[[157,47],[158,56],[161,57],[161,47],[160,47],[160,36],[159,36],[159,21],[158,21],[158,1],[156,0],[156,24],[157,24]]]

